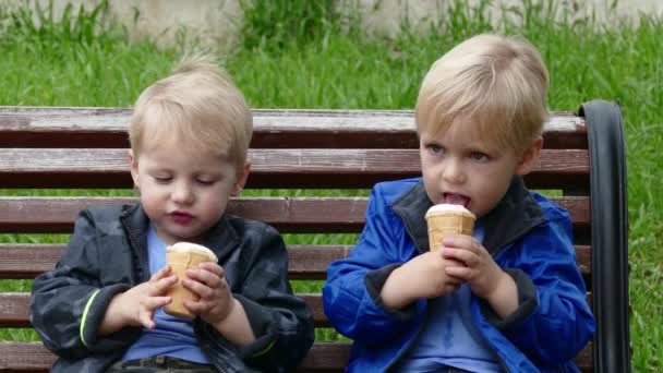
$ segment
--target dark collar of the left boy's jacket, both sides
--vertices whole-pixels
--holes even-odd
[[[224,214],[219,221],[207,232],[207,238],[203,245],[209,248],[219,262],[222,263],[226,255],[231,253],[241,242],[240,233],[231,224],[231,218]],[[142,263],[147,263],[147,228],[149,218],[141,204],[128,206],[122,212],[122,221],[126,229],[132,244],[137,248],[136,254]]]

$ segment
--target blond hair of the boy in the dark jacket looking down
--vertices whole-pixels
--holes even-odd
[[[147,87],[129,125],[136,158],[145,146],[176,140],[178,152],[208,152],[240,167],[252,133],[244,96],[208,56],[184,58],[172,73]]]

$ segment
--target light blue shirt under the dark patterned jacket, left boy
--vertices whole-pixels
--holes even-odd
[[[149,274],[153,275],[166,266],[166,243],[157,237],[152,226],[147,232],[147,251]],[[164,309],[157,309],[154,322],[156,327],[143,328],[141,337],[126,350],[122,360],[168,356],[196,363],[209,363],[198,347],[190,320],[173,317],[166,314]]]

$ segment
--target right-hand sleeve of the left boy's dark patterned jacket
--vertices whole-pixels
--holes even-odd
[[[233,293],[246,312],[256,340],[238,350],[246,364],[261,371],[294,369],[313,345],[313,316],[292,293],[288,281],[288,252],[272,227],[252,234],[260,246],[248,257],[241,291]]]

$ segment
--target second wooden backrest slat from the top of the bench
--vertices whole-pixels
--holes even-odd
[[[371,188],[421,175],[418,149],[251,149],[246,188]],[[529,188],[589,184],[586,149],[544,149]],[[132,188],[126,149],[0,148],[0,188]]]

